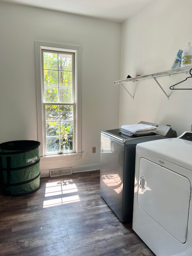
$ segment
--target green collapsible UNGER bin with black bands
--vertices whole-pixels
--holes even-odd
[[[35,140],[0,144],[0,189],[7,196],[22,196],[40,188],[39,145]]]

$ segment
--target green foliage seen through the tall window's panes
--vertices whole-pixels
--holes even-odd
[[[73,150],[72,93],[72,56],[44,52],[47,152]]]

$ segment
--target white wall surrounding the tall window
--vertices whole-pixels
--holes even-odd
[[[35,41],[77,45],[82,49],[82,158],[40,166],[99,165],[101,131],[118,128],[119,87],[113,81],[120,76],[121,24],[0,2],[0,38],[0,143],[38,140]]]

